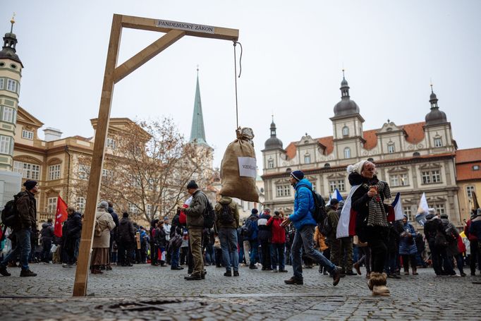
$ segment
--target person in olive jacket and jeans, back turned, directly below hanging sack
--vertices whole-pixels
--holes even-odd
[[[215,225],[219,232],[222,259],[226,267],[224,277],[239,276],[239,255],[237,252],[237,228],[239,226],[239,211],[236,202],[228,196],[222,196],[215,205]]]

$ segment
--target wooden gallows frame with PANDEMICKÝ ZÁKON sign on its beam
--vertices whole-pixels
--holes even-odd
[[[123,28],[165,32],[165,35],[145,47],[145,49],[142,49],[142,51],[135,54],[135,56],[128,59],[128,61],[122,63],[121,66],[116,66]],[[110,32],[109,52],[107,53],[105,64],[97,130],[95,131],[94,152],[90,166],[87,203],[85,205],[75,283],[73,284],[73,296],[87,295],[90,249],[92,248],[95,212],[99,198],[100,180],[102,179],[105,141],[109,128],[114,85],[185,35],[237,41],[239,30],[114,14]]]

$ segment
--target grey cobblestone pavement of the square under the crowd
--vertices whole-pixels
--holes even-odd
[[[32,265],[37,277],[0,277],[1,320],[480,320],[473,305],[481,277],[420,275],[389,279],[389,297],[373,297],[364,276],[332,279],[304,270],[303,286],[288,286],[291,273],[207,267],[202,281],[185,270],[135,265],[90,275],[85,298],[73,298],[75,269]],[[288,269],[291,271],[290,267]],[[475,282],[475,283],[473,283]],[[476,284],[478,283],[478,284]],[[470,306],[467,306],[470,304]]]

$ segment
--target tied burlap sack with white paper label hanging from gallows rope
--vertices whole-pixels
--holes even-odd
[[[259,202],[255,186],[257,177],[255,150],[250,128],[236,131],[237,139],[227,146],[221,164],[221,195]]]

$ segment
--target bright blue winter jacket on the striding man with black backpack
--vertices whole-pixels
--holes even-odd
[[[314,210],[314,198],[312,198],[312,184],[307,178],[303,178],[294,187],[296,195],[294,196],[294,212],[289,215],[289,219],[293,222],[296,230],[303,226],[315,226],[316,222],[312,218],[312,210]]]

